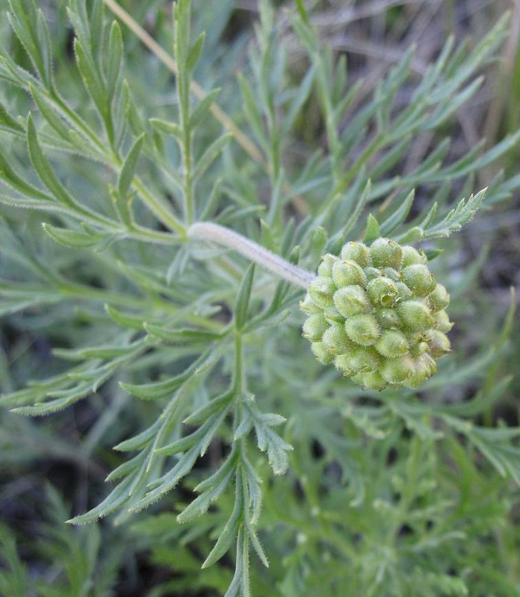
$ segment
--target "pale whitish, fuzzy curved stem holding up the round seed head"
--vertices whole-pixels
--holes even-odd
[[[285,261],[285,259],[265,247],[239,235],[238,232],[219,226],[219,224],[197,222],[188,228],[188,238],[210,241],[232,249],[247,257],[250,261],[262,265],[284,280],[303,288],[307,288],[316,277],[312,272],[299,268],[297,265],[292,265],[292,263]]]

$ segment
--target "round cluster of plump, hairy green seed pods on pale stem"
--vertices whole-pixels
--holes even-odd
[[[450,351],[450,296],[426,255],[389,239],[349,242],[327,254],[301,301],[303,336],[324,365],[334,362],[366,389],[418,387]]]

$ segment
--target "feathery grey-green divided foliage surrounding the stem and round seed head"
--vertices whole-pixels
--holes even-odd
[[[33,0],[8,11],[0,314],[16,340],[1,404],[47,415],[87,398],[99,422],[85,453],[111,468],[105,497],[70,521],[85,528],[58,523],[69,514],[50,493],[44,560],[60,576],[38,594],[110,594],[132,542],[171,569],[153,596],[515,594],[520,432],[495,417],[514,308],[501,330],[497,312],[473,331],[492,310],[473,292],[478,263],[461,279],[446,258],[454,232],[520,186],[503,173],[486,192],[475,182],[520,133],[462,155],[446,136],[508,15],[471,50],[449,39],[420,80],[411,50],[358,103],[303,1],[283,26],[261,1],[246,63],[243,41],[221,41],[231,3],[205,21],[179,0],[173,29],[155,3],[136,14],[144,4],[173,48],[173,82],[100,0],[69,0],[49,25]],[[73,59],[53,34],[70,27]],[[303,52],[297,83],[290,44]],[[424,159],[401,173],[420,135]],[[351,239],[426,242],[430,259],[445,249],[431,268],[462,322],[453,356],[420,392],[361,390],[301,338],[303,290],[190,237],[202,220],[312,271]],[[54,346],[45,367],[19,356],[39,336]],[[2,425],[4,453],[45,424]],[[46,442],[67,453],[57,439]],[[109,514],[123,530],[107,531],[104,560],[95,521]],[[25,595],[12,531],[0,541],[0,591]]]

